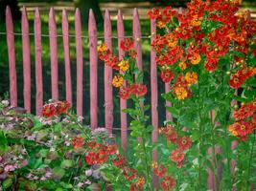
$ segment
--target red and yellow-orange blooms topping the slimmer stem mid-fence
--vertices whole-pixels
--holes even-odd
[[[148,89],[145,84],[139,81],[133,81],[133,77],[128,75],[133,75],[134,58],[136,56],[136,51],[134,50],[134,42],[130,38],[126,38],[121,41],[121,49],[128,53],[128,58],[118,59],[118,56],[113,55],[111,51],[107,48],[107,45],[101,44],[98,46],[98,53],[101,60],[105,62],[105,65],[112,67],[114,70],[119,71],[119,74],[115,74],[112,79],[112,85],[119,88],[119,96],[123,99],[128,99],[131,95],[144,96],[147,94]],[[128,78],[128,84],[125,83],[125,78]]]

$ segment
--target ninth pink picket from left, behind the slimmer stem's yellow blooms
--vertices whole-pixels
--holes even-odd
[[[119,10],[117,14],[117,37],[118,37],[118,53],[121,60],[125,56],[125,52],[121,49],[121,41],[125,39],[125,29],[123,14]],[[120,72],[122,74],[122,72]],[[126,82],[124,82],[126,86]],[[125,155],[128,151],[128,116],[123,112],[127,108],[127,100],[120,98],[120,115],[121,115],[121,144]]]

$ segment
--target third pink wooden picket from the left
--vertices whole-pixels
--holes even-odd
[[[42,78],[42,43],[41,43],[41,19],[38,8],[35,9],[35,111],[36,116],[42,115],[43,106],[43,78]]]

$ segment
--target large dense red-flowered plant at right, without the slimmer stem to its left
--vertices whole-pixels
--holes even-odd
[[[164,98],[172,102],[167,110],[173,120],[167,121],[163,134],[181,145],[190,144],[186,138],[192,138],[194,145],[187,155],[190,162],[177,171],[182,177],[179,188],[206,190],[206,173],[211,169],[216,190],[234,185],[247,190],[255,182],[251,172],[256,22],[248,11],[239,11],[238,1],[222,0],[192,0],[181,12],[167,7],[152,9],[149,16],[159,31],[151,46],[161,78],[171,89]],[[176,134],[186,138],[175,138]],[[233,142],[231,149],[234,140],[239,145],[235,148]],[[173,154],[182,165],[182,149]],[[230,166],[234,159],[235,172]]]

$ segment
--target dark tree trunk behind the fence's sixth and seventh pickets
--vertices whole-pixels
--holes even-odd
[[[83,26],[88,25],[88,16],[90,9],[93,10],[97,25],[103,24],[103,14],[100,10],[98,0],[74,0],[76,8],[81,11],[81,23]]]

